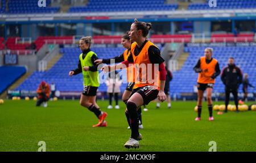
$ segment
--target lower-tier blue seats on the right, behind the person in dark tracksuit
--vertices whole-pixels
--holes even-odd
[[[174,80],[171,81],[171,93],[192,93],[193,86],[197,83],[198,74],[193,71],[193,67],[201,56],[204,55],[204,49],[206,47],[188,46],[185,48],[185,52],[189,52],[190,55],[184,62],[183,67],[174,72]],[[231,46],[231,47],[213,47],[213,57],[216,58],[220,64],[222,70],[228,63],[229,57],[234,57],[236,65],[242,70],[242,73],[249,74],[249,81],[256,86],[256,65],[254,60],[256,59],[256,46]],[[240,93],[242,92],[240,86]],[[224,93],[224,85],[220,80],[220,76],[216,79],[214,85],[214,93]],[[252,93],[253,90],[249,89]]]

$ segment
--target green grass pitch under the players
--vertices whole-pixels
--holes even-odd
[[[214,104],[220,104],[218,102]],[[108,101],[98,100],[108,112],[108,127],[93,128],[96,116],[81,107],[79,101],[49,101],[48,107],[35,107],[35,101],[9,101],[0,105],[0,151],[38,151],[38,142],[46,142],[46,151],[205,151],[216,141],[217,151],[256,151],[256,111],[228,112],[208,120],[204,102],[200,122],[195,122],[196,102],[155,102],[142,112],[144,129],[139,149],[123,147],[129,139],[124,114],[108,110]],[[233,104],[233,101],[232,101]],[[249,105],[250,103],[247,103]]]

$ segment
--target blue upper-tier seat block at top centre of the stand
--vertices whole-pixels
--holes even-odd
[[[163,11],[176,10],[177,4],[164,4],[164,0],[90,0],[86,6],[71,7],[69,12]]]

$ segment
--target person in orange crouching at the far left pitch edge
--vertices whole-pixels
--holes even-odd
[[[43,103],[44,107],[47,107],[47,101],[51,94],[51,88],[49,84],[45,81],[42,81],[36,90],[38,93],[38,101],[36,102],[36,106],[40,106]]]

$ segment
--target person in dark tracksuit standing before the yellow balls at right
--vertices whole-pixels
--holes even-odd
[[[228,66],[226,66],[221,73],[221,81],[225,85],[225,112],[228,112],[229,105],[229,96],[230,93],[234,96],[234,103],[236,105],[236,109],[238,112],[238,88],[242,83],[242,72],[241,69],[238,68],[234,64],[234,58],[230,57],[228,60]]]

